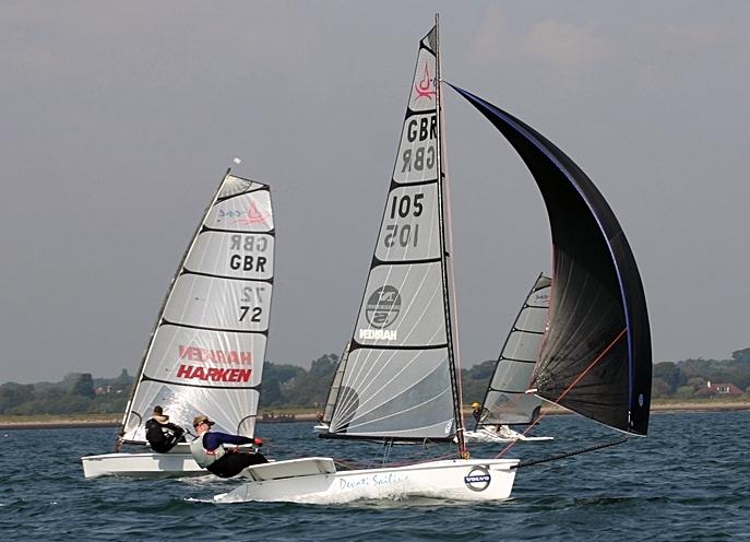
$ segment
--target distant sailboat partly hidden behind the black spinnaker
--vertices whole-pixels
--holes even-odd
[[[524,299],[500,352],[495,372],[478,409],[474,431],[466,432],[472,443],[544,441],[552,437],[527,436],[511,425],[528,425],[539,417],[543,400],[526,393],[547,329],[552,281],[539,274]]]

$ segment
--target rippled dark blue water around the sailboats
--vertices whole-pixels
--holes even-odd
[[[216,505],[212,495],[237,482],[84,480],[80,456],[110,451],[114,428],[3,431],[0,533],[2,540],[112,541],[750,540],[748,424],[748,411],[654,414],[648,438],[524,468],[511,500],[479,505]],[[377,460],[376,447],[321,440],[311,428],[266,424],[259,435],[278,459],[326,453]],[[517,445],[509,457],[541,458],[617,438],[579,416],[549,416],[536,434],[556,440]],[[414,452],[398,448],[394,453]],[[473,447],[475,457],[497,451]]]

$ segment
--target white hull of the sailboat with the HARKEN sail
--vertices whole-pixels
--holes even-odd
[[[103,453],[81,458],[84,478],[180,478],[207,474],[201,469],[187,445],[177,446],[167,453],[145,451],[141,453]]]

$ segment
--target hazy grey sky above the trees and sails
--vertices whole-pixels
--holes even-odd
[[[655,362],[750,346],[750,3],[0,3],[0,382],[135,374],[227,167],[272,187],[266,358],[349,339],[417,44],[523,119],[609,202]],[[497,357],[550,271],[536,185],[444,91],[462,364]],[[241,157],[238,166],[235,156]]]

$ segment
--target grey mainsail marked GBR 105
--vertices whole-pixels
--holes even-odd
[[[420,42],[380,234],[328,434],[452,439],[457,390],[437,25]]]

